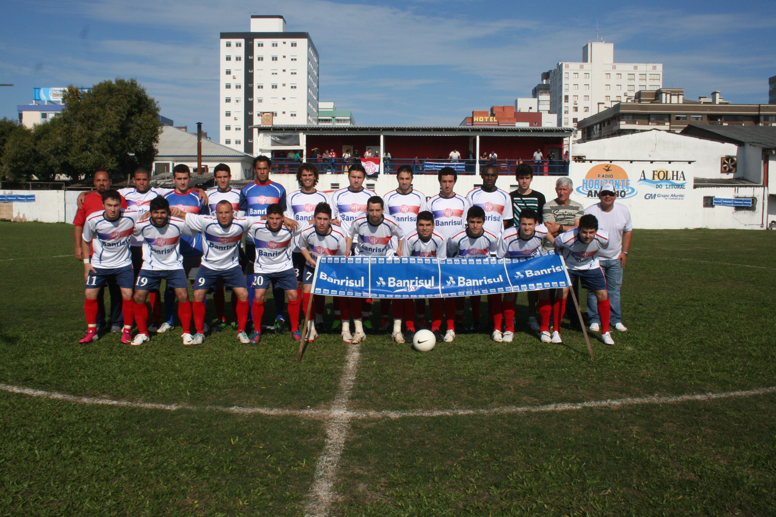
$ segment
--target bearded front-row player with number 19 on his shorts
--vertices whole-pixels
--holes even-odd
[[[133,346],[145,343],[148,338],[148,308],[145,305],[148,293],[158,290],[161,281],[175,290],[178,298],[178,319],[183,329],[184,345],[193,343],[191,335],[192,305],[189,302],[189,282],[183,270],[180,253],[181,236],[194,236],[194,231],[183,219],[171,217],[170,203],[165,198],[153,198],[148,205],[151,217],[135,225],[134,236],[143,242],[143,264],[137,271],[134,295],[134,314],[137,322],[137,336]]]

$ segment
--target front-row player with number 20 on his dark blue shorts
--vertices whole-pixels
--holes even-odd
[[[253,326],[251,343],[262,340],[262,316],[264,315],[264,296],[272,281],[273,294],[277,289],[286,291],[289,299],[289,319],[291,336],[302,340],[299,331],[299,305],[297,295],[296,272],[293,270],[291,252],[293,251],[293,230],[283,224],[283,209],[278,203],[267,207],[267,220],[251,223],[248,235],[256,246],[256,260],[253,271]],[[282,304],[282,298],[275,298]]]

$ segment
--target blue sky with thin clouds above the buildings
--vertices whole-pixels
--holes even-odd
[[[720,90],[767,102],[776,2],[2,2],[0,116],[33,87],[137,78],[176,125],[218,137],[219,33],[280,14],[320,53],[320,98],[360,124],[458,124],[473,109],[530,97],[542,71],[615,43],[619,62],[663,63],[688,98]]]

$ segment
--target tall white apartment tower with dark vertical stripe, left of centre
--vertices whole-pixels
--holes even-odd
[[[251,32],[221,33],[221,143],[254,154],[262,112],[274,124],[317,124],[318,51],[282,16],[251,16]],[[258,146],[256,147],[258,150]]]

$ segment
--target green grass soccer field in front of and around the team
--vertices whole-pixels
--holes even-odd
[[[520,295],[514,343],[329,334],[301,364],[288,334],[78,345],[72,226],[0,235],[0,516],[776,514],[776,391],[562,406],[776,386],[774,232],[636,230],[594,361]]]

